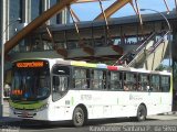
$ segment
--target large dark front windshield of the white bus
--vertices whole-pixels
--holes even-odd
[[[15,68],[12,76],[12,100],[42,100],[50,96],[49,69]]]

